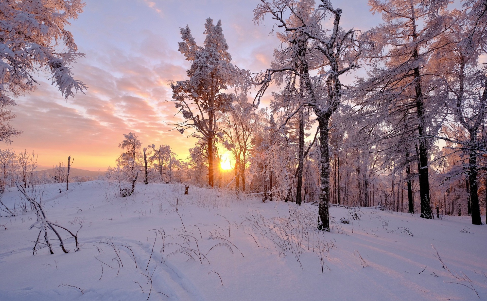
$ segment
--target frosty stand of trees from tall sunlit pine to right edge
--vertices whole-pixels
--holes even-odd
[[[235,160],[232,186],[263,199],[381,205],[423,218],[469,214],[482,224],[486,195],[487,1],[369,1],[383,22],[343,29],[330,1],[262,0],[281,46],[269,69],[231,63],[221,21],[196,44],[181,29],[187,80],[171,83],[181,133],[199,139],[193,172],[215,186],[218,146]],[[328,20],[333,26],[327,28]],[[342,83],[365,69],[352,84]],[[274,84],[270,108],[258,109]],[[229,92],[229,88],[234,89]],[[256,97],[247,101],[250,88]],[[314,128],[317,127],[316,134]],[[308,137],[308,138],[306,138]],[[486,200],[486,201],[482,201]]]

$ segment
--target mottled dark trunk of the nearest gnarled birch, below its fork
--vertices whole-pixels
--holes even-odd
[[[328,145],[328,116],[320,116],[319,127],[319,148],[321,159],[321,175],[319,186],[318,216],[322,223],[320,230],[330,231],[329,201],[330,201],[330,148]],[[319,227],[318,227],[319,228]]]

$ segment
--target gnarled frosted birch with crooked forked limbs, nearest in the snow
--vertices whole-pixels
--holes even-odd
[[[329,121],[341,103],[343,90],[340,75],[359,68],[361,42],[353,29],[340,26],[341,9],[333,8],[329,0],[320,0],[318,7],[312,0],[261,0],[254,10],[254,20],[261,22],[269,14],[278,28],[293,33],[287,43],[288,55],[298,58],[298,65],[271,66],[263,74],[262,84],[268,86],[276,73],[293,72],[302,78],[306,87],[306,106],[317,116],[320,144],[319,227],[330,230],[330,154]],[[286,17],[290,16],[290,17]],[[331,18],[333,28],[327,29]],[[316,74],[318,73],[318,74]],[[316,74],[316,75],[315,75]]]

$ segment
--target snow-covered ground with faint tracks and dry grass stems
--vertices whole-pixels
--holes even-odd
[[[35,213],[1,217],[0,300],[487,299],[487,226],[467,216],[332,207],[323,232],[311,204],[179,184],[138,184],[127,198],[101,180],[59,188],[37,187],[49,220],[83,226],[80,250],[51,235],[55,254],[33,256]]]

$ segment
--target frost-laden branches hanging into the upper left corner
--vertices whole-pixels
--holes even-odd
[[[65,99],[86,89],[71,67],[84,54],[64,29],[84,5],[82,0],[0,1],[0,141],[21,133],[9,124],[15,116],[7,107],[36,88],[39,73],[49,73]]]

